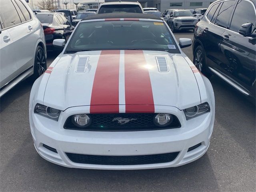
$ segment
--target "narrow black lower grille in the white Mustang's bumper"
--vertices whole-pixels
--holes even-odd
[[[66,153],[72,162],[94,165],[144,165],[166,163],[172,162],[178,154],[179,152],[135,156],[100,156]]]

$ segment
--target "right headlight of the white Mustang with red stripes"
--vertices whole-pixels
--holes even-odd
[[[185,113],[186,119],[189,120],[207,112],[210,112],[210,106],[207,102],[205,102],[194,107],[186,108],[183,111]]]

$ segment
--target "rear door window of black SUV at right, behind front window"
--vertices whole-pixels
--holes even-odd
[[[215,22],[216,25],[224,28],[228,27],[228,20],[233,9],[233,4],[234,0],[223,2],[220,11],[218,12],[218,16]]]

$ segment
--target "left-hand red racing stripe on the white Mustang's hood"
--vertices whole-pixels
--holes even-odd
[[[100,54],[92,86],[90,113],[119,112],[120,50]]]

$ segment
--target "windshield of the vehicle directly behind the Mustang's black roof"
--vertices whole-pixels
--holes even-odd
[[[138,5],[102,5],[99,10],[100,13],[118,13],[118,12],[127,12],[127,13],[142,13],[140,6]]]

